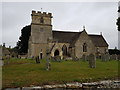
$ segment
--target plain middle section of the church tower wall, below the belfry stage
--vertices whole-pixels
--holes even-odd
[[[33,43],[47,43],[47,40],[52,38],[52,27],[32,24],[31,36]]]

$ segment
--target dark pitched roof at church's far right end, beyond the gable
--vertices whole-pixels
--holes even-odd
[[[105,41],[105,39],[103,38],[102,35],[89,34],[88,36],[91,38],[91,40],[93,41],[93,44],[96,47],[108,47],[108,44],[107,44],[107,42]]]

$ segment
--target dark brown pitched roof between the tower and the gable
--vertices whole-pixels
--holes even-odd
[[[66,32],[66,31],[52,31],[53,32],[53,41],[59,43],[71,43],[79,32]]]

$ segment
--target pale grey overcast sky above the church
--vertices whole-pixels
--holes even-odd
[[[102,32],[109,48],[118,47],[117,2],[2,3],[1,43],[14,47],[21,35],[21,29],[31,24],[31,11],[40,11],[41,8],[44,12],[52,13],[53,30],[82,31],[85,26],[87,33]]]

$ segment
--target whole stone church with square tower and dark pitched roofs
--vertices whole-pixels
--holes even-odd
[[[52,30],[52,13],[32,11],[31,36],[29,38],[28,57],[47,55],[82,58],[83,55],[101,56],[108,52],[108,44],[102,34]]]

